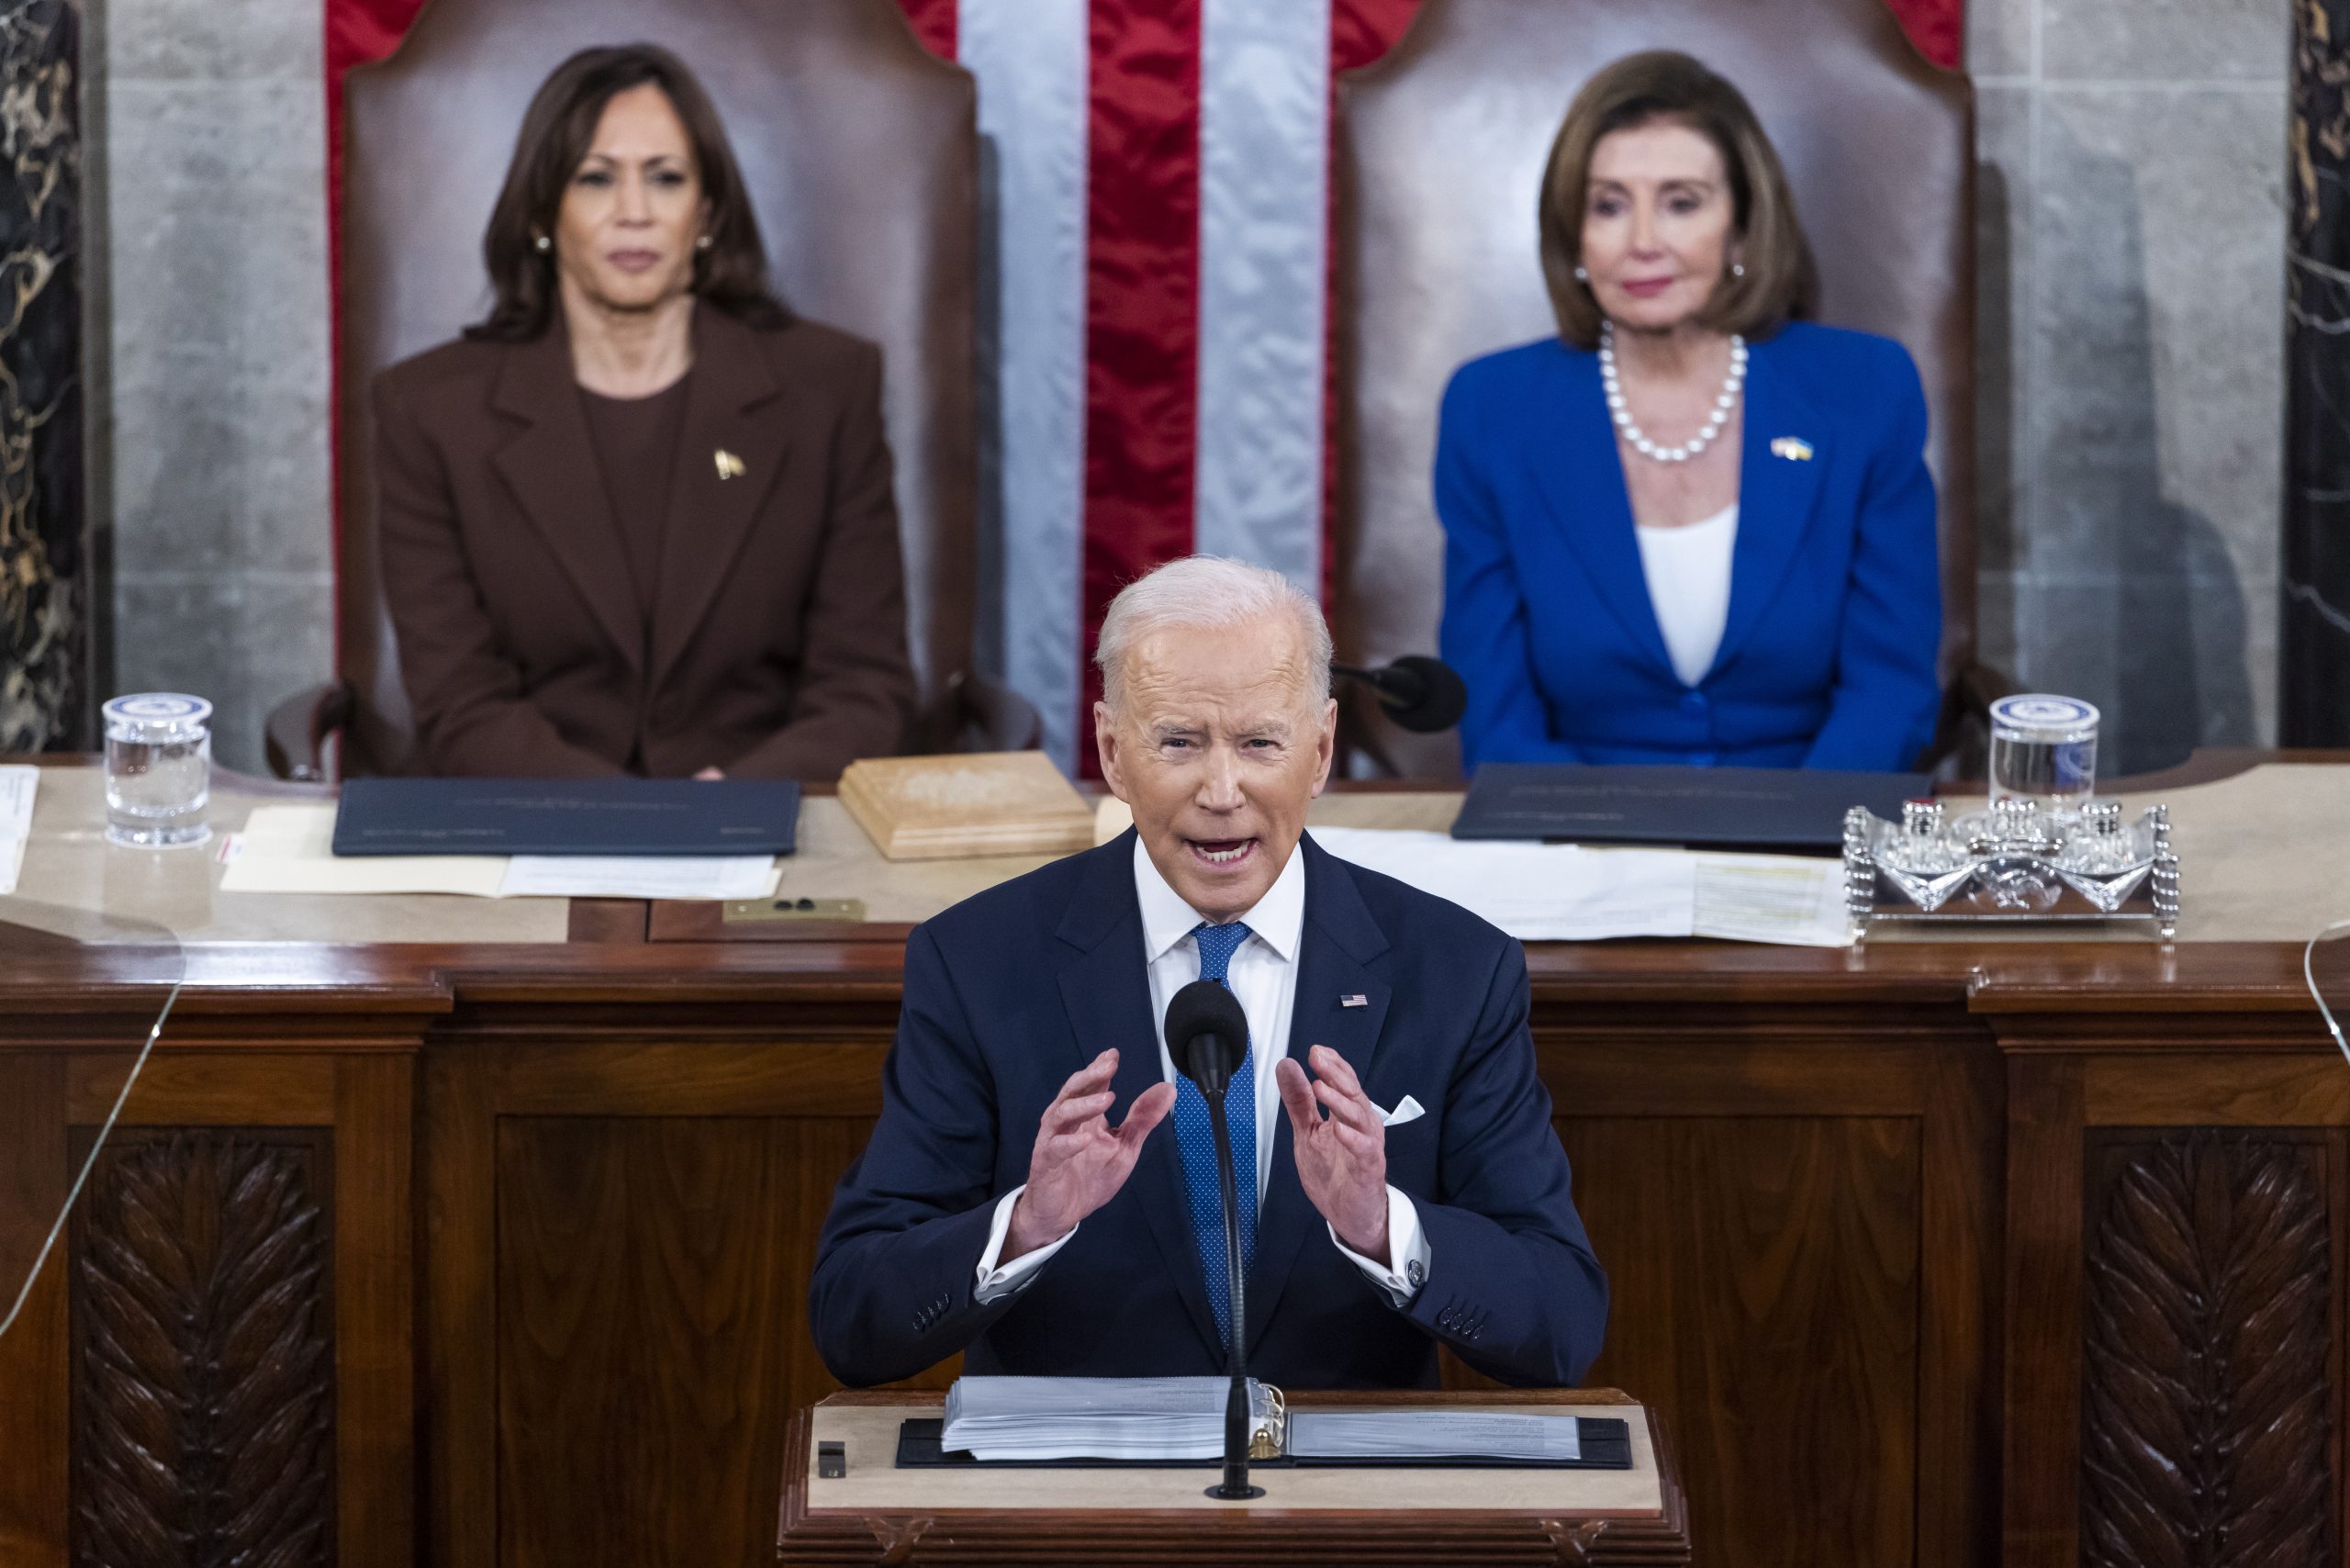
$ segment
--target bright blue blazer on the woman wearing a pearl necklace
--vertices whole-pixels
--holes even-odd
[[[1462,759],[1906,769],[1934,736],[1941,571],[1908,353],[1793,322],[1746,364],[1730,623],[1664,651],[1598,355],[1549,339],[1445,388],[1436,515]],[[1793,437],[1810,458],[1779,456]],[[1800,449],[1795,449],[1800,451]]]

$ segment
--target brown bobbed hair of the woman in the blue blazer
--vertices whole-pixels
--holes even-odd
[[[1730,174],[1732,228],[1746,242],[1744,277],[1723,277],[1701,320],[1718,331],[1770,336],[1819,303],[1812,247],[1795,221],[1795,193],[1779,153],[1746,94],[1701,61],[1676,49],[1626,54],[1584,82],[1551,143],[1542,172],[1542,277],[1558,315],[1558,336],[1598,348],[1600,308],[1574,277],[1584,249],[1584,207],[1591,193],[1591,150],[1603,136],[1652,120],[1673,120],[1706,136]]]

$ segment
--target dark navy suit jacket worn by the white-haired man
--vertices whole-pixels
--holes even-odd
[[[1104,1046],[1126,1117],[1161,1081],[1133,832],[968,898],[914,931],[881,1121],[841,1178],[808,1286],[841,1382],[968,1373],[1217,1375],[1224,1352],[1184,1206],[1175,1124],[1126,1187],[1008,1300],[973,1300],[994,1204],[1027,1180],[1036,1121]],[[1429,1281],[1396,1309],[1340,1255],[1297,1182],[1288,1114],[1248,1274],[1250,1373],[1281,1387],[1436,1387],[1436,1347],[1518,1385],[1570,1385],[1598,1354],[1607,1279],[1574,1215],[1535,1077],[1525,952],[1459,905],[1323,853],[1311,837],[1288,1053],[1342,1053],[1379,1105]],[[1365,1006],[1342,1006],[1361,994]]]

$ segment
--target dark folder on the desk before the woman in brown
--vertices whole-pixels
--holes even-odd
[[[787,856],[790,778],[352,778],[338,856]]]

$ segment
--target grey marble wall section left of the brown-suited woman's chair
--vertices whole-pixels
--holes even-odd
[[[261,717],[334,670],[320,0],[106,7],[115,689]]]

